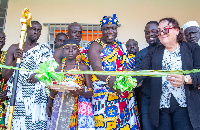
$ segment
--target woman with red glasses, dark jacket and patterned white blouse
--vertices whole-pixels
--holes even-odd
[[[147,53],[136,70],[200,69],[200,47],[183,42],[178,22],[161,19],[157,35],[162,45]],[[137,77],[140,82],[144,77]],[[149,118],[158,130],[200,128],[200,73],[152,77]],[[145,123],[145,122],[143,122]]]

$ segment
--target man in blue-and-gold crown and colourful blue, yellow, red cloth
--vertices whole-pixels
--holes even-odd
[[[129,69],[126,47],[116,40],[118,25],[116,14],[113,17],[104,16],[100,21],[102,37],[82,49],[82,59],[94,71]],[[114,76],[96,75],[96,81],[93,82],[92,104],[95,128],[97,130],[139,130],[134,92],[115,94],[109,89],[109,85],[112,86],[114,81]]]

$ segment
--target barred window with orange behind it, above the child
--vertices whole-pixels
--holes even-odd
[[[60,32],[67,34],[68,25],[71,23],[44,23],[44,26],[48,26],[47,43],[54,50],[54,39]],[[101,38],[102,32],[99,24],[85,24],[79,23],[83,28],[82,41],[80,45],[85,47],[88,42]]]

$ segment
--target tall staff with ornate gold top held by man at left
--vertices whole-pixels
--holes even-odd
[[[25,8],[22,11],[22,18],[20,19],[20,22],[22,24],[22,28],[21,28],[19,48],[23,49],[24,39],[25,39],[27,27],[32,27],[32,25],[31,25],[31,13],[30,13],[28,8]],[[21,63],[21,59],[17,58],[16,67],[19,67],[20,63]],[[13,119],[13,113],[14,113],[14,109],[15,109],[15,97],[16,97],[16,90],[17,90],[18,75],[19,75],[19,70],[15,70],[15,77],[14,77],[14,81],[13,81],[12,96],[11,96],[11,99],[10,99],[7,130],[11,130],[12,129],[12,119]]]

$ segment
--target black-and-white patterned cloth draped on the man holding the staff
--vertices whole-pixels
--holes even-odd
[[[20,68],[36,70],[40,63],[52,60],[52,51],[48,44],[38,44],[23,53]],[[45,130],[47,129],[47,96],[45,84],[42,82],[31,83],[27,79],[33,72],[19,70],[15,110],[12,120],[13,130]],[[14,75],[7,82],[8,95],[12,94]],[[8,103],[9,105],[9,103]],[[9,107],[8,107],[9,109]],[[8,110],[6,123],[8,120]]]

